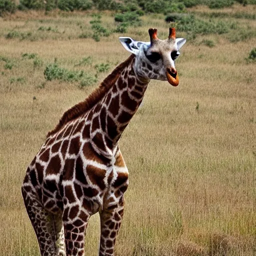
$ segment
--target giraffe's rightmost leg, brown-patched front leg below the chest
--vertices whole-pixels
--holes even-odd
[[[123,215],[123,195],[119,203],[109,206],[99,213],[100,216],[100,245],[99,256],[112,256],[115,238],[118,233]]]

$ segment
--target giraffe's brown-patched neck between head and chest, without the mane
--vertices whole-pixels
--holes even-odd
[[[89,113],[92,115],[90,138],[98,153],[109,157],[114,154],[117,142],[137,111],[149,81],[134,71],[133,59]]]

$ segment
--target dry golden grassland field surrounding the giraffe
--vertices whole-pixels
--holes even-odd
[[[239,37],[255,31],[256,20],[230,15],[255,13],[254,6],[214,10],[226,15],[212,22],[237,26],[225,34],[189,39],[177,25],[177,37],[188,36],[176,60],[180,83],[151,80],[120,139],[129,187],[116,256],[256,255],[256,63],[246,60],[256,37]],[[207,20],[212,11],[188,10]],[[149,27],[161,39],[168,35],[164,16],[151,14],[125,33],[81,38],[90,33],[91,14],[17,11],[0,17],[1,256],[39,255],[20,193],[26,166],[63,111],[128,56],[118,36],[148,41]],[[116,26],[111,12],[101,12],[101,21]],[[52,63],[73,70],[74,79],[45,79]],[[80,70],[84,80],[75,78]],[[97,255],[98,241],[95,214],[85,255]]]

